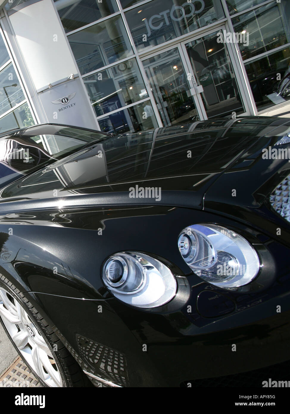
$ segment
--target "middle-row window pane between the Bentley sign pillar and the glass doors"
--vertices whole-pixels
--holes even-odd
[[[96,116],[148,97],[136,59],[88,76],[84,83]]]

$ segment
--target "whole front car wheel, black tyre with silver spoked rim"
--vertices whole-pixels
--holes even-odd
[[[44,387],[85,387],[89,380],[41,314],[0,274],[0,322]]]

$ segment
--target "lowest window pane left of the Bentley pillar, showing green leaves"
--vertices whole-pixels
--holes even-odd
[[[0,119],[0,133],[14,128],[29,127],[34,123],[29,107],[24,103]]]

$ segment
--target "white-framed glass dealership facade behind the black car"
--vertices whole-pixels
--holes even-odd
[[[8,2],[5,16],[10,19],[30,3]],[[290,99],[288,0],[55,0],[53,5],[96,128],[103,131],[256,115]],[[1,89],[1,76],[17,75],[5,46],[0,52]],[[0,126],[7,111],[19,122],[20,113],[32,119],[21,87],[10,83],[0,96]]]

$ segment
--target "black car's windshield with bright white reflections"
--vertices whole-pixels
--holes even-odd
[[[36,125],[0,138],[0,177],[41,168],[108,135],[62,125]]]

